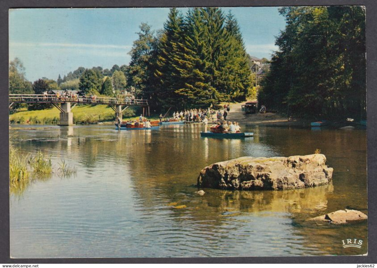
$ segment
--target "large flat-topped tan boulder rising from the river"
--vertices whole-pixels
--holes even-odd
[[[333,177],[323,154],[290,157],[239,157],[205,167],[198,187],[284,190],[323,185]]]

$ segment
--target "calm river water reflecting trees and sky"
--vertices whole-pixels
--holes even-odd
[[[34,126],[11,131],[25,154],[77,169],[11,187],[11,256],[210,257],[367,253],[367,223],[316,224],[345,209],[367,213],[366,131],[243,126],[254,138],[201,138],[200,125],[158,131],[113,126]],[[241,156],[312,154],[334,168],[330,185],[289,191],[220,191],[196,179],[204,166]],[[174,209],[170,203],[186,205]],[[361,249],[343,248],[348,238]]]

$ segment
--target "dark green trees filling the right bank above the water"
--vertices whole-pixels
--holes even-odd
[[[284,7],[260,104],[317,119],[366,118],[365,10],[360,6]]]

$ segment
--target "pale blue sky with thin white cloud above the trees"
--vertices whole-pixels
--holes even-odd
[[[238,20],[246,50],[270,58],[275,36],[285,28],[276,7],[223,8]],[[186,8],[180,8],[185,14]],[[26,78],[56,80],[79,66],[128,64],[127,53],[142,22],[161,29],[169,8],[11,9],[9,60],[18,57]]]

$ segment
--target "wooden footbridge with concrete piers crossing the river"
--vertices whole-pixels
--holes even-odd
[[[149,114],[149,105],[147,100],[128,99],[128,98],[110,98],[110,97],[85,97],[85,96],[58,96],[56,94],[9,94],[9,108],[14,103],[51,103],[60,111],[61,126],[73,125],[72,109],[77,104],[106,104],[115,112],[116,117],[122,118],[122,113],[129,106],[141,106],[147,108]],[[73,103],[73,105],[71,105]],[[123,107],[124,108],[123,108]]]

